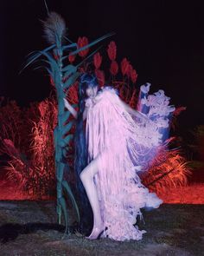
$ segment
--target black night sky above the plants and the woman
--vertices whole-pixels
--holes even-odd
[[[183,128],[204,124],[204,18],[198,1],[67,1],[47,0],[49,10],[64,17],[68,37],[89,40],[116,32],[108,39],[118,45],[118,61],[127,57],[137,69],[139,87],[164,89],[175,106],[186,106],[179,117]],[[21,106],[41,101],[50,86],[42,71],[26,69],[25,56],[47,46],[40,19],[47,16],[43,0],[0,3],[0,95]]]

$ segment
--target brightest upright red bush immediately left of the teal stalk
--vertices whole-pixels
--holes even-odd
[[[57,121],[57,105],[54,98],[50,98],[40,102],[38,109],[39,119],[32,121],[30,151],[35,172],[35,194],[41,196],[53,194],[55,190],[53,131]]]

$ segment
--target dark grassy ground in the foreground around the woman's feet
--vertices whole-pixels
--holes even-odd
[[[143,210],[143,209],[142,209]],[[204,205],[167,204],[143,211],[143,240],[86,240],[57,224],[55,201],[1,200],[1,256],[204,255]],[[74,214],[70,211],[70,225]],[[70,229],[73,232],[72,228]]]

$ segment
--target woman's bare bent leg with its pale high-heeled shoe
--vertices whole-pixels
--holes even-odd
[[[80,173],[80,180],[86,189],[93,213],[93,228],[91,235],[88,237],[89,239],[96,239],[104,226],[103,220],[101,219],[98,192],[93,181],[93,176],[98,173],[99,157],[100,155],[92,160]]]

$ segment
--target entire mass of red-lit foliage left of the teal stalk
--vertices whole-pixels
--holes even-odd
[[[32,103],[29,109],[20,110],[16,102],[2,107],[6,111],[1,112],[0,149],[1,154],[9,157],[3,169],[7,178],[16,183],[20,194],[35,199],[55,193],[53,130],[56,107],[53,97]],[[6,118],[8,113],[10,119]],[[13,125],[17,121],[19,125]]]

